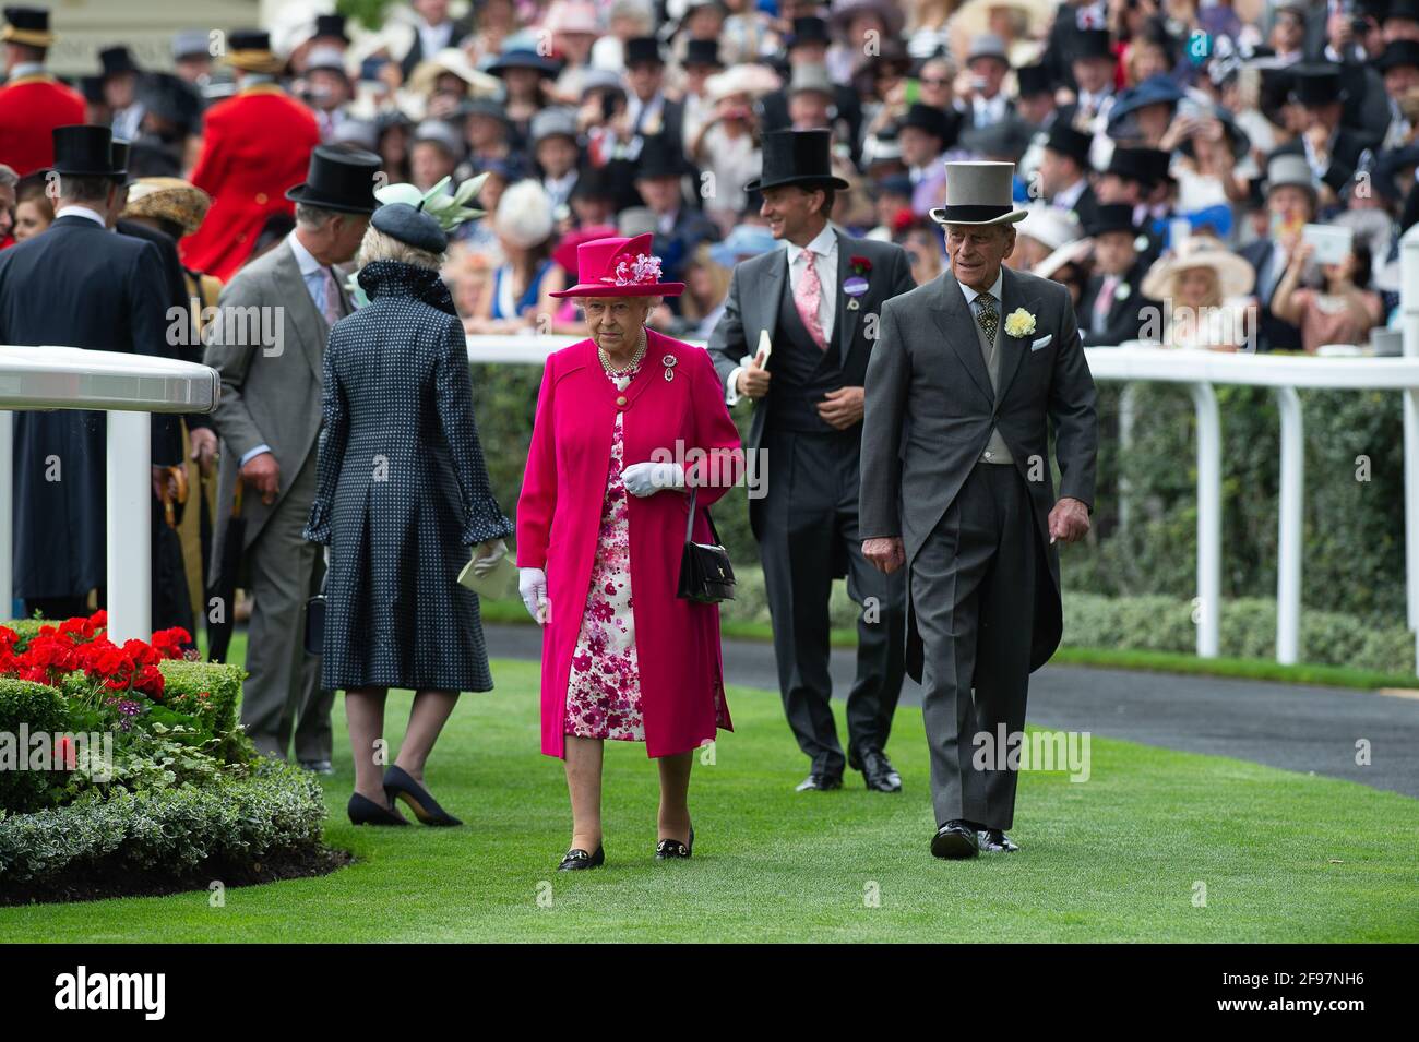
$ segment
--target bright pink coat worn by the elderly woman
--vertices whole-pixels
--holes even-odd
[[[542,374],[517,527],[518,567],[546,571],[552,601],[542,632],[542,751],[548,756],[563,754],[566,686],[596,559],[616,413],[624,413],[626,466],[663,449],[671,455],[656,458],[684,462],[690,481],[708,472],[715,483],[700,488],[701,508],[728,491],[744,464],[710,354],[654,330],[646,336],[646,359],[624,393],[607,380],[590,339],[551,354]],[[664,379],[666,356],[675,359],[673,380]],[[683,452],[698,448],[712,455],[694,462],[677,454],[677,442]],[[727,454],[732,454],[732,471]],[[717,726],[732,730],[724,699],[719,608],[675,597],[688,495],[666,489],[630,496],[629,506],[646,753],[673,756],[714,740]],[[702,509],[697,513],[695,542],[708,542],[710,525]]]

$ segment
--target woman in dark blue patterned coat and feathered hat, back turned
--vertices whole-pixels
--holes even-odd
[[[325,424],[305,537],[325,543],[322,686],[345,689],[350,821],[457,825],[423,787],[424,761],[463,690],[490,690],[477,597],[458,586],[471,547],[507,553],[473,418],[463,325],[438,278],[447,237],[406,203],[375,211],[360,244],[369,305],[325,350]],[[481,568],[480,563],[480,568]],[[390,688],[414,690],[394,764],[376,750]]]

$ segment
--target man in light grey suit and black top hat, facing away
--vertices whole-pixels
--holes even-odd
[[[241,723],[261,753],[281,758],[294,730],[297,760],[321,773],[329,771],[335,693],[319,689],[319,661],[305,654],[302,610],[319,560],[301,533],[315,498],[325,343],[350,312],[332,265],[359,248],[377,206],[379,166],[369,152],[315,149],[307,181],[287,193],[295,230],[223,289],[206,353],[221,373],[213,421],[226,442],[213,568],[231,530],[238,478],[244,486],[253,611]]]

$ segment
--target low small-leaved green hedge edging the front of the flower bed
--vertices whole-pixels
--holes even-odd
[[[67,807],[0,819],[0,882],[70,868],[193,868],[238,863],[318,844],[325,801],[312,774],[263,758],[247,777],[203,787],[91,792]]]

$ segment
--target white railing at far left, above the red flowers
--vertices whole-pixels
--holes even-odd
[[[108,637],[152,635],[152,437],[149,413],[210,413],[214,369],[148,354],[0,344],[0,410],[108,411]],[[0,413],[0,611],[13,597],[14,434]]]

